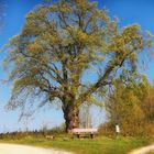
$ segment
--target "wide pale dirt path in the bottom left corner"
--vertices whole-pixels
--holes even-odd
[[[15,144],[0,144],[0,154],[73,154],[73,153],[57,151],[53,148],[41,148]]]

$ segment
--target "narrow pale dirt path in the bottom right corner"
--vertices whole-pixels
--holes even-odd
[[[154,144],[132,151],[129,154],[154,154]]]

